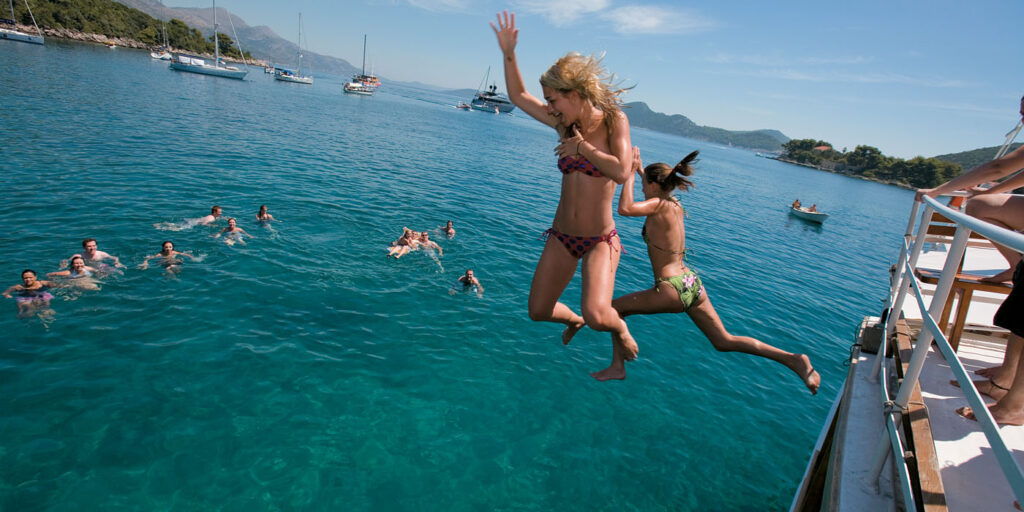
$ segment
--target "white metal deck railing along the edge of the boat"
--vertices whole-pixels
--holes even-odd
[[[885,332],[882,336],[882,344],[879,347],[879,352],[872,368],[872,378],[878,378],[882,365],[885,362],[888,340],[890,335],[895,331],[896,321],[899,318],[900,311],[903,309],[903,302],[906,299],[906,295],[911,290],[913,291],[914,298],[916,299],[918,305],[922,311],[923,326],[921,334],[918,337],[916,346],[913,349],[913,354],[910,357],[909,366],[904,374],[903,383],[900,385],[895,399],[890,399],[886,379],[881,379],[881,404],[886,418],[888,438],[883,437],[879,441],[872,472],[870,473],[870,482],[877,485],[879,476],[881,476],[882,470],[885,468],[889,455],[892,453],[899,454],[900,457],[896,458],[895,462],[897,475],[902,487],[903,500],[906,504],[907,510],[916,508],[914,506],[914,500],[910,489],[910,480],[906,462],[902,457],[905,447],[903,440],[900,437],[901,434],[899,427],[902,416],[910,400],[910,393],[912,392],[913,387],[918,384],[918,379],[921,377],[921,372],[924,368],[929,347],[934,340],[938,345],[939,350],[942,352],[943,357],[945,357],[946,362],[949,364],[949,368],[952,370],[953,376],[956,377],[956,381],[959,382],[959,387],[964,390],[964,394],[967,396],[967,401],[974,411],[975,418],[977,418],[978,423],[981,425],[981,428],[985,433],[985,437],[988,438],[992,452],[995,454],[999,467],[1002,469],[1002,473],[1010,482],[1010,486],[1013,489],[1014,495],[1016,496],[1018,502],[1024,503],[1024,471],[1021,470],[1021,467],[1017,464],[1017,460],[1014,458],[1012,452],[1007,447],[1006,441],[999,434],[999,429],[995,420],[992,419],[992,415],[988,412],[988,407],[985,404],[985,400],[982,399],[980,394],[978,394],[978,390],[975,389],[974,384],[971,381],[971,377],[964,369],[959,358],[956,356],[956,352],[953,351],[952,347],[949,345],[949,341],[942,333],[942,329],[939,328],[936,322],[936,318],[941,315],[943,306],[945,305],[949,292],[952,289],[956,270],[964,258],[968,238],[970,237],[972,230],[982,234],[992,242],[1013,248],[1014,250],[1020,252],[1024,252],[1024,236],[1009,229],[994,226],[977,218],[968,216],[959,211],[947,208],[932,198],[926,197],[924,200],[926,202],[926,206],[925,211],[921,216],[921,222],[918,223],[916,236],[913,234],[914,221],[918,217],[920,203],[914,202],[913,204],[913,208],[910,212],[910,220],[907,223],[903,248],[900,251],[899,265],[896,271],[893,272],[891,283],[892,293],[890,294],[889,301],[889,315],[886,322]],[[921,254],[921,250],[925,244],[925,238],[928,233],[928,224],[932,218],[932,213],[935,211],[945,215],[946,218],[955,222],[956,231],[953,236],[952,242],[949,244],[946,261],[943,265],[939,283],[935,287],[932,302],[926,308],[925,298],[921,290],[921,283],[918,281],[916,275],[914,275],[914,268],[916,267],[918,256]],[[912,247],[909,246],[911,237],[914,241]],[[925,314],[926,312],[927,314]]]

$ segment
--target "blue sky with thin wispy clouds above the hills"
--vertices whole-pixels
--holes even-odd
[[[207,0],[164,0],[208,7]],[[568,51],[603,53],[627,101],[728,130],[932,157],[999,145],[1020,120],[1022,0],[221,0],[251,26],[386,79],[504,89],[488,22],[509,9],[527,87]],[[243,41],[243,45],[245,41]],[[1015,58],[1016,57],[1016,58]],[[1024,137],[1022,137],[1024,138]]]

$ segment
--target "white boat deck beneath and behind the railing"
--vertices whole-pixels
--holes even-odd
[[[944,247],[937,246],[931,249],[927,253],[922,253],[918,266],[941,269],[946,256]],[[969,247],[963,271],[992,275],[1006,266],[1006,260],[994,249]],[[930,302],[935,287],[923,285],[922,288],[925,291],[926,302]],[[1009,333],[992,326],[991,322],[992,315],[1005,298],[1006,295],[997,293],[975,293],[968,309],[966,330],[957,349],[961,362],[968,372],[1001,364]],[[910,328],[911,339],[915,343],[922,323],[921,311],[912,295],[907,297],[903,314]],[[868,317],[865,322],[872,325],[878,318]],[[837,433],[840,449],[834,458],[841,460],[834,461],[833,465],[841,467],[842,474],[833,478],[842,478],[846,481],[843,485],[834,484],[833,488],[837,494],[831,500],[834,505],[837,505],[836,509],[893,510],[893,495],[899,493],[895,490],[898,487],[894,487],[892,483],[894,471],[891,469],[891,458],[889,467],[882,474],[882,490],[877,493],[867,481],[878,443],[886,435],[883,422],[879,421],[882,418],[880,384],[869,379],[873,359],[872,353],[860,353],[851,360],[855,370],[852,371],[848,383],[851,386],[848,391],[849,410],[861,412],[873,410],[879,414],[841,413],[840,415],[842,419]],[[949,383],[953,379],[949,365],[933,344],[922,371],[920,386],[921,396],[931,423],[938,471],[945,490],[945,506],[951,511],[1015,510],[1013,492],[980,425],[956,414],[957,409],[968,403],[963,391]],[[994,402],[987,397],[986,401]],[[1017,463],[1024,466],[1024,426],[1002,426],[999,430],[1007,445],[1014,453]],[[927,504],[929,501],[929,498],[925,497],[924,502]],[[940,504],[942,501],[941,498],[934,500]],[[942,510],[942,507],[939,505],[927,509]]]

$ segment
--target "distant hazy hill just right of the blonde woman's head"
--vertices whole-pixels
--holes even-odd
[[[643,101],[626,103],[624,106],[623,110],[630,118],[632,126],[648,130],[766,152],[777,152],[781,150],[783,143],[790,141],[790,137],[778,130],[729,131],[711,126],[698,126],[680,114],[670,116],[654,112]]]

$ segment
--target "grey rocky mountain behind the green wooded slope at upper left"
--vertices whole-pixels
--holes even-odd
[[[116,0],[118,3],[138,9],[150,14],[157,19],[169,20],[178,18],[185,25],[200,30],[206,36],[213,35],[213,17],[209,8],[191,7],[167,7],[159,0]],[[287,3],[282,4],[282,9],[288,9]],[[295,37],[298,37],[299,12],[282,12],[282,15],[295,16]],[[230,17],[228,17],[230,16]],[[257,58],[282,65],[295,66],[296,55],[299,47],[294,42],[284,39],[273,32],[269,27],[249,27],[241,17],[231,14],[223,7],[217,7],[217,23],[220,25],[220,33],[227,34],[231,38],[231,25],[239,33],[242,49],[250,52]],[[353,44],[358,43],[356,35],[352,36]],[[359,72],[359,69],[350,65],[343,58],[321,55],[309,50],[304,50],[305,65],[315,74],[336,75],[348,78]]]

